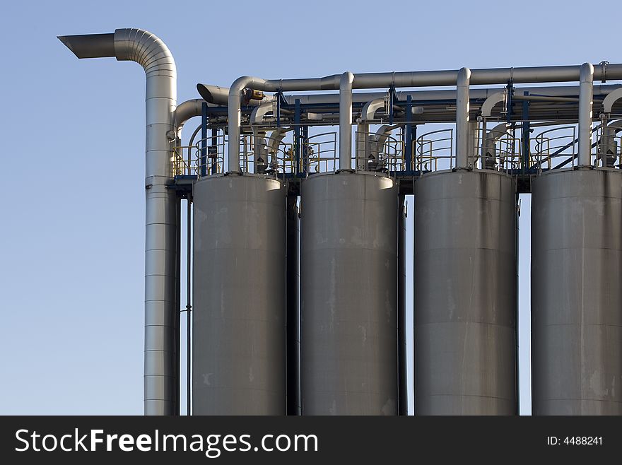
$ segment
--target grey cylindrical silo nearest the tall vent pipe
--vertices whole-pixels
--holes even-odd
[[[194,184],[193,413],[285,415],[286,187]]]

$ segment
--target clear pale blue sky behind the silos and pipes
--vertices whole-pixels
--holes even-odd
[[[5,2],[0,413],[143,411],[144,73],[78,61],[57,35],[150,30],[175,57],[182,102],[199,97],[199,81],[229,86],[245,74],[618,62],[620,10],[619,1]],[[529,228],[522,196],[524,414]]]

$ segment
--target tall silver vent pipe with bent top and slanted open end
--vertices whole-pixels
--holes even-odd
[[[175,139],[172,131],[177,102],[175,60],[162,40],[136,28],[117,29],[114,35],[72,35],[59,39],[78,58],[114,56],[119,61],[135,61],[145,70],[144,408],[146,415],[174,415],[177,412],[175,322],[179,307],[175,302],[175,278],[179,200],[168,184],[172,182],[171,142]]]

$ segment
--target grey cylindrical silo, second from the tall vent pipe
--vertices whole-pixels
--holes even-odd
[[[315,175],[301,192],[303,415],[397,415],[397,184]]]

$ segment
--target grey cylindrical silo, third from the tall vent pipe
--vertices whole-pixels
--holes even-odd
[[[415,182],[416,415],[513,415],[516,183],[488,170]]]

